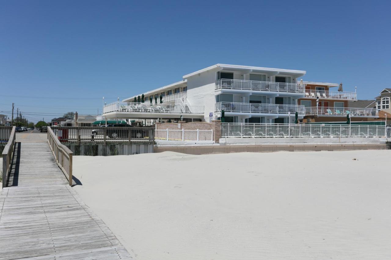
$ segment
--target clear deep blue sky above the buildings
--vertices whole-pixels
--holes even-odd
[[[0,5],[0,110],[14,102],[34,122],[96,114],[102,96],[113,102],[216,63],[306,70],[304,80],[357,86],[359,99],[390,87],[387,1]]]

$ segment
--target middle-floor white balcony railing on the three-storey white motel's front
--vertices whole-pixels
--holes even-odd
[[[219,102],[215,104],[215,112],[243,112],[243,113],[268,113],[268,114],[304,114],[304,106],[301,105],[276,105],[276,104],[250,104]]]

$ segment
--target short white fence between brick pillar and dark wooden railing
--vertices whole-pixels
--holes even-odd
[[[158,141],[213,141],[212,130],[155,130],[155,140]]]

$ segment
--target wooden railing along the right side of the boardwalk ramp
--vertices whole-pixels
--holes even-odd
[[[50,150],[54,155],[57,165],[63,171],[68,179],[69,185],[72,185],[72,155],[73,152],[68,147],[61,144],[57,136],[54,135],[52,128],[48,126],[48,143]]]

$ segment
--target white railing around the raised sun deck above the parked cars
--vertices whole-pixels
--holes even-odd
[[[103,114],[109,112],[203,114],[204,106],[186,105],[186,104],[150,104],[150,103],[115,102],[103,107]]]

